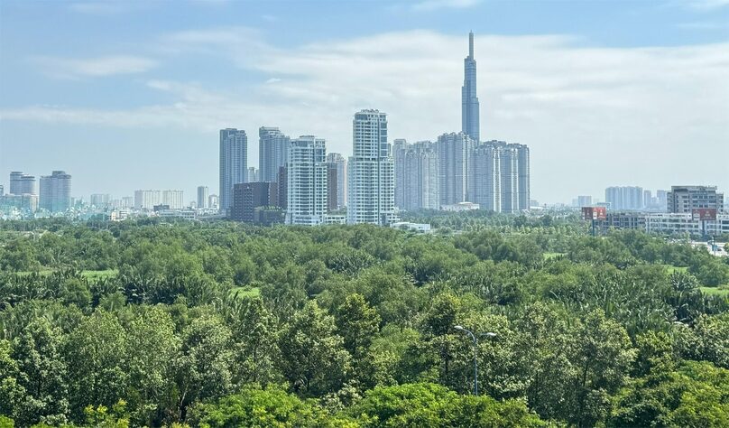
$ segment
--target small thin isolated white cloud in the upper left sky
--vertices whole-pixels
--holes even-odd
[[[156,60],[134,55],[108,55],[87,59],[41,56],[32,57],[31,60],[42,73],[63,79],[143,73],[158,65]]]

